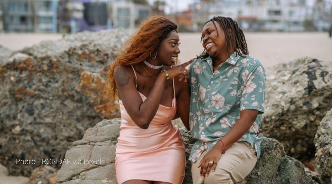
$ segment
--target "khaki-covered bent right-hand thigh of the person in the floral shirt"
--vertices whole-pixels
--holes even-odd
[[[236,142],[222,154],[214,173],[229,174],[233,182],[238,182],[251,172],[256,162],[257,156],[251,145],[247,142]]]

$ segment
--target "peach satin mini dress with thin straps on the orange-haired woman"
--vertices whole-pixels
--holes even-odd
[[[136,73],[135,77],[138,81]],[[174,79],[173,91],[172,107],[159,105],[146,130],[134,123],[119,100],[122,124],[115,158],[118,184],[133,179],[182,183],[185,147],[179,130],[171,123],[176,113]],[[139,94],[145,101],[146,97]]]

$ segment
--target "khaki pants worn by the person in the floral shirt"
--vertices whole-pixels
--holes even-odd
[[[191,173],[194,184],[232,184],[243,180],[255,167],[257,156],[248,142],[236,142],[226,150],[225,154],[217,162],[214,172],[212,169],[208,176],[200,176],[201,167],[197,165],[207,154],[205,150],[200,158],[192,163]]]

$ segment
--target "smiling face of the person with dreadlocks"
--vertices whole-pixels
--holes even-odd
[[[227,53],[226,37],[220,25],[212,21],[206,23],[202,31],[202,45],[212,58],[218,58]]]

